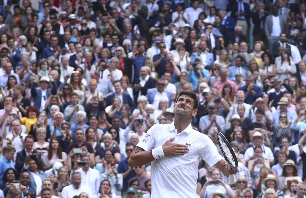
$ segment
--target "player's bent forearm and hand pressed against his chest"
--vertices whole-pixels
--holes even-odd
[[[162,158],[164,156],[178,156],[183,155],[188,152],[188,147],[184,144],[177,144],[172,143],[172,141],[175,139],[175,137],[170,138],[167,140],[162,146],[162,152],[163,156],[160,155],[158,157]],[[155,148],[158,149],[158,148]],[[152,154],[152,150],[144,150],[143,148],[140,148],[136,146],[136,149],[132,153],[131,157],[129,158],[129,166],[130,167],[136,167],[136,166],[143,166],[146,164],[151,163],[151,161],[155,160],[153,156],[156,156],[156,154]],[[156,159],[159,159],[159,158]]]

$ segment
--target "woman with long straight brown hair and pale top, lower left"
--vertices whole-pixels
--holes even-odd
[[[66,164],[67,154],[62,152],[62,147],[57,138],[50,140],[48,152],[41,157],[43,162],[43,171],[47,171],[53,167],[53,164],[57,161]]]

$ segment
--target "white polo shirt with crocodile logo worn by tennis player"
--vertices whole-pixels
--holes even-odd
[[[174,136],[172,143],[188,145],[189,151],[184,155],[165,156],[151,162],[151,197],[199,197],[196,194],[196,182],[200,157],[209,166],[223,159],[208,136],[192,129],[191,124],[179,134],[174,122],[168,125],[155,124],[137,146],[150,151]]]

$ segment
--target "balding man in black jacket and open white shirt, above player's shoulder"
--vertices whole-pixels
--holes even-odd
[[[149,69],[146,66],[140,68],[140,78],[133,82],[133,94],[135,101],[138,96],[146,95],[147,90],[156,87],[156,81],[149,76]]]

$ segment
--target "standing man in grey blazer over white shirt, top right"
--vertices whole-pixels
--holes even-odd
[[[278,15],[277,5],[272,6],[272,14],[266,17],[265,33],[268,39],[269,51],[273,51],[273,44],[278,41],[279,35],[285,32],[287,18]]]

